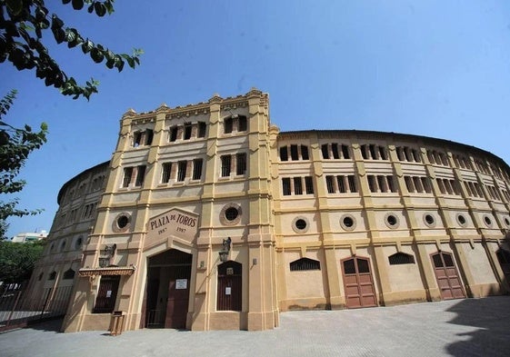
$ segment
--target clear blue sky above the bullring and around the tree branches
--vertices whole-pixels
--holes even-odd
[[[145,55],[118,74],[77,48],[55,46],[48,32],[50,54],[68,74],[100,81],[90,102],[0,64],[0,95],[18,90],[7,122],[46,122],[50,131],[16,195],[20,207],[45,212],[10,219],[9,236],[49,231],[58,191],[110,159],[128,108],[193,104],[253,86],[269,93],[271,121],[282,131],[419,134],[510,163],[508,1],[119,1],[104,18],[51,6],[95,43]]]

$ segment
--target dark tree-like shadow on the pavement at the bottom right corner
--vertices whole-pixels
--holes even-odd
[[[510,296],[459,300],[447,312],[456,317],[448,322],[475,327],[459,334],[465,340],[446,346],[453,356],[509,356],[510,355]]]

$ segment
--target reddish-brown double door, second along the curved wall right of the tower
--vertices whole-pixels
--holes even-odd
[[[435,279],[443,300],[465,298],[464,289],[451,253],[438,252],[431,255]]]

